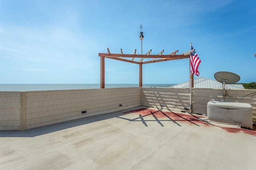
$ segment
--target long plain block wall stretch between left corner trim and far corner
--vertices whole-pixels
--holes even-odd
[[[140,106],[140,88],[26,92],[26,129],[135,106]]]

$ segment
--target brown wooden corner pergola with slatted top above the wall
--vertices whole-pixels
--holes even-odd
[[[164,50],[162,50],[158,55],[150,55],[152,50],[148,51],[145,55],[137,55],[136,49],[134,54],[123,54],[121,49],[120,54],[111,54],[109,49],[108,53],[99,53],[100,57],[100,88],[105,88],[105,58],[114,59],[119,61],[125,61],[128,63],[139,64],[139,86],[142,87],[142,64],[157,63],[162,61],[178,60],[190,58],[190,53],[195,51],[195,49],[187,51],[186,53],[176,54],[178,50],[170,53],[169,55],[162,55]],[[130,58],[130,59],[127,59]],[[134,59],[139,58],[138,61]],[[151,59],[150,61],[143,61],[144,59]]]

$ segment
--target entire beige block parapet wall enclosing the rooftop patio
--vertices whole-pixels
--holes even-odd
[[[227,94],[226,102],[251,104],[256,116],[256,90],[227,90]],[[193,88],[193,113],[207,115],[207,103],[211,100],[224,101],[222,89]],[[140,105],[185,111],[190,107],[190,90],[138,87],[0,92],[0,130],[31,129]]]

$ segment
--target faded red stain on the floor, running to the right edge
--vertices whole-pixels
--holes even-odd
[[[202,119],[207,119],[207,116],[202,115],[192,115],[189,113],[175,113],[172,111],[159,111],[153,109],[134,109],[130,111],[126,111],[124,113],[135,113],[140,114],[142,117],[155,117],[155,119],[170,119],[170,121],[177,121],[177,123],[189,123],[194,125],[204,125],[204,126],[216,126],[212,125],[206,121],[202,121]],[[200,118],[202,118],[200,120]],[[250,135],[256,136],[256,127],[254,129],[243,129],[243,128],[232,128],[232,127],[220,127],[229,133],[246,133]]]

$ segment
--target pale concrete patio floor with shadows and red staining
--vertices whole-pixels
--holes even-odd
[[[0,169],[255,170],[255,131],[218,127],[204,118],[140,106],[0,131]]]

